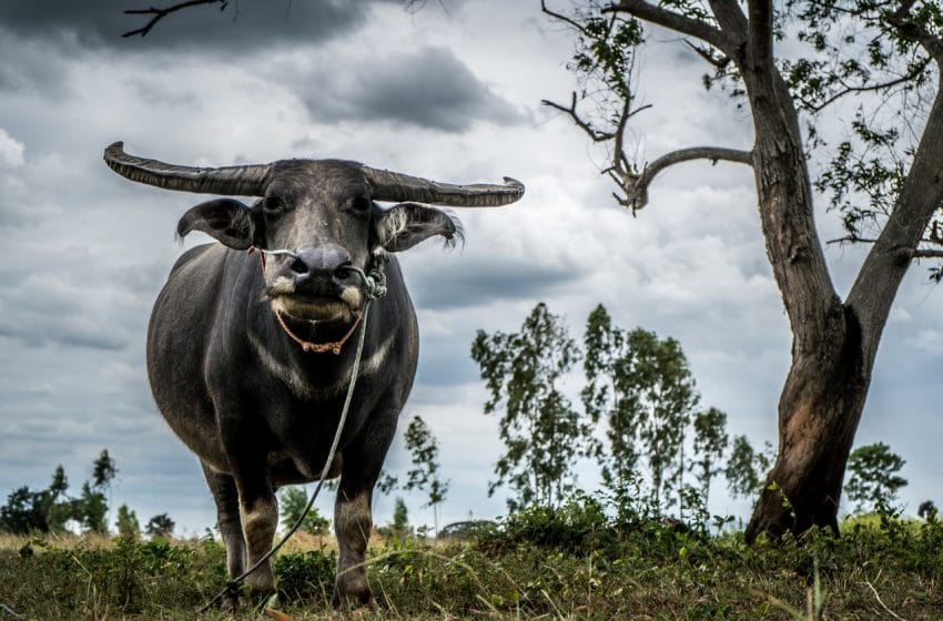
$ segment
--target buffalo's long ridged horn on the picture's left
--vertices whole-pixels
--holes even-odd
[[[200,169],[176,166],[156,160],[136,157],[124,152],[123,142],[114,142],[104,150],[104,161],[111,170],[131,181],[146,183],[165,190],[225,194],[230,196],[261,196],[270,164]]]

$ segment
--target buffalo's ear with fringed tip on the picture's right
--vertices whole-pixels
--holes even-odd
[[[423,240],[442,235],[447,244],[462,238],[458,221],[434,207],[399,203],[374,215],[377,245],[387,252],[409,250]]]

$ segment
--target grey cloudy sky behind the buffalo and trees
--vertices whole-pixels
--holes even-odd
[[[598,174],[605,154],[543,108],[566,101],[570,35],[539,3],[397,0],[231,2],[172,16],[146,38],[122,14],[146,2],[0,4],[0,493],[77,489],[102,448],[116,459],[113,506],[142,522],[169,512],[183,533],[213,525],[196,460],[156,413],[143,366],[150,306],[174,258],[176,221],[204,197],[129,183],[101,161],[129,152],[194,165],[343,157],[448,182],[523,180],[524,200],[462,211],[467,242],[403,256],[422,355],[400,419],[419,415],[452,479],[443,521],[493,517],[500,450],[468,356],[475,332],[514,330],[537,302],[576,336],[605,304],[622,327],[679,339],[702,403],[731,434],[774,438],[789,332],[765,261],[749,171],[692,163],[658,179],[638,217]],[[633,128],[651,160],[692,144],[748,149],[748,119],[700,88],[697,58],[666,33],[640,59]],[[823,237],[839,236],[822,212]],[[186,246],[200,243],[197,235]],[[862,253],[829,247],[839,291]],[[907,464],[909,512],[941,496],[937,369],[943,292],[912,269],[879,354],[858,444],[888,442]],[[387,465],[408,467],[397,440]],[[595,485],[586,469],[584,485]],[[721,486],[714,486],[721,487]],[[414,522],[432,523],[419,496]],[[323,509],[329,500],[320,502]],[[392,500],[377,501],[377,522]],[[713,512],[746,516],[718,492]]]

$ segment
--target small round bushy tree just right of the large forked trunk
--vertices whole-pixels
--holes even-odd
[[[848,482],[844,486],[849,500],[859,512],[888,510],[898,490],[907,480],[898,475],[904,467],[899,455],[891,452],[884,442],[859,447],[848,458]]]

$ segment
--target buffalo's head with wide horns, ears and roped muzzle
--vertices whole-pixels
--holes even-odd
[[[448,214],[420,203],[498,206],[524,193],[508,177],[504,185],[452,185],[342,160],[205,169],[136,157],[122,146],[110,145],[104,159],[132,181],[257,197],[252,205],[230,197],[201,203],[183,215],[178,234],[202,231],[231,248],[264,253],[272,309],[302,322],[352,320],[364,305],[362,278],[374,254],[459,234]],[[378,201],[397,204],[383,208]]]

